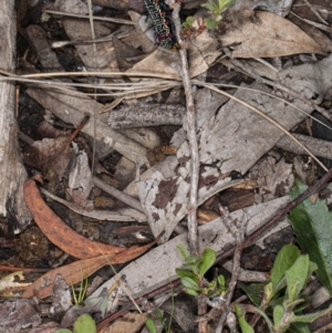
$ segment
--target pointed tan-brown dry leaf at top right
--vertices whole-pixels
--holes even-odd
[[[266,11],[230,11],[221,22],[222,46],[239,44],[234,58],[272,58],[325,50],[295,24]],[[225,32],[226,31],[226,32]]]

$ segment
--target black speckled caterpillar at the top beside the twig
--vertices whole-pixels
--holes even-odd
[[[165,49],[178,49],[172,11],[165,0],[144,0],[144,2],[154,23],[156,42]]]

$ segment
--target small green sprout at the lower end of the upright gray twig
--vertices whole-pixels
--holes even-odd
[[[183,269],[176,269],[176,274],[180,278],[181,284],[188,294],[197,296],[199,294],[212,298],[224,298],[228,289],[224,275],[219,275],[217,281],[207,281],[206,272],[214,266],[216,261],[216,252],[206,249],[200,257],[189,253],[185,246],[177,247],[184,262]]]

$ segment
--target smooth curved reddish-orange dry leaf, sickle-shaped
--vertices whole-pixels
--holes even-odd
[[[34,177],[25,181],[24,200],[35,223],[52,243],[79,259],[93,258],[101,253],[112,254],[115,258],[111,260],[111,263],[117,262],[116,256],[129,250],[92,241],[76,233],[44,202],[35,184],[35,179],[38,178],[40,177]],[[135,250],[135,248],[133,248],[133,250]],[[127,260],[131,259],[132,258],[128,258]]]

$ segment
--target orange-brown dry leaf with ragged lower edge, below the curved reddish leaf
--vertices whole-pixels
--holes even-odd
[[[155,242],[148,243],[144,247],[131,247],[128,249],[124,249],[118,254],[106,254],[98,256],[96,258],[79,260],[68,266],[63,266],[56,268],[54,270],[49,271],[38,280],[35,280],[23,293],[22,298],[28,299],[37,295],[40,299],[44,299],[52,293],[53,282],[58,274],[61,274],[63,280],[68,284],[75,284],[84,277],[90,277],[95,271],[101,269],[106,264],[117,264],[124,263],[129,260],[137,258],[143,254],[146,250],[148,250]],[[101,252],[100,252],[101,254]]]

